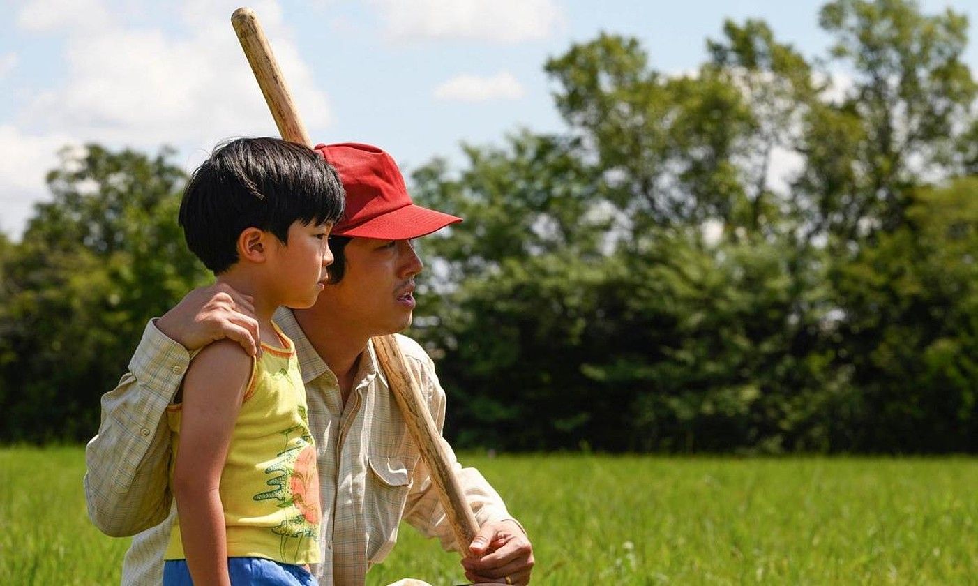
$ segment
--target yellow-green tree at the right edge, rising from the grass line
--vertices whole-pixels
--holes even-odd
[[[978,178],[913,192],[905,224],[834,267],[864,389],[854,449],[978,449]]]

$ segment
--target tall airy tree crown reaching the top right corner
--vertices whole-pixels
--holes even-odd
[[[968,126],[961,122],[972,119],[978,88],[961,61],[967,18],[951,10],[926,16],[909,0],[835,0],[820,23],[835,37],[832,57],[853,75],[842,103],[817,110],[810,122],[830,128],[817,129],[815,140],[838,139],[843,160],[809,172],[815,185],[841,180],[816,203],[844,244],[895,229],[915,185],[959,170],[956,146]]]

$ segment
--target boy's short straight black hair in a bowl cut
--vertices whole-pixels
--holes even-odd
[[[295,221],[339,221],[344,195],[333,166],[308,147],[240,138],[215,147],[194,171],[179,221],[187,246],[217,275],[238,262],[245,228],[271,232],[288,245]]]

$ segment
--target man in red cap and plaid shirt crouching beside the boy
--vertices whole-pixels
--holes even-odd
[[[330,285],[310,309],[280,309],[275,321],[295,343],[317,443],[324,563],[313,570],[322,584],[362,584],[370,565],[393,547],[402,518],[439,537],[446,549],[460,549],[370,338],[411,323],[414,278],[422,271],[411,239],[461,218],[412,203],[396,163],[376,147],[316,150],[346,190],[346,214],[333,228]],[[85,493],[89,517],[104,532],[142,531],[126,553],[125,584],[160,579],[172,515],[166,407],[191,352],[219,338],[257,351],[250,302],[216,286],[188,294],[147,325],[129,372],[102,399],[102,425],[86,449]],[[441,429],[445,393],[434,365],[414,340],[397,341]],[[447,442],[445,447],[454,458]],[[458,463],[455,470],[481,526],[462,546],[469,552],[463,561],[467,578],[526,584],[533,552],[522,527],[480,473]]]

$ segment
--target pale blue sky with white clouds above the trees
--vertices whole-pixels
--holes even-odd
[[[374,143],[405,170],[519,127],[559,130],[548,57],[600,31],[651,64],[705,59],[725,18],[761,18],[808,57],[823,2],[798,0],[255,0],[313,140]],[[973,2],[927,0],[971,17]],[[15,238],[66,145],[155,151],[193,169],[219,140],[277,131],[230,25],[242,0],[0,0],[0,230]],[[978,43],[966,62],[978,71]]]

